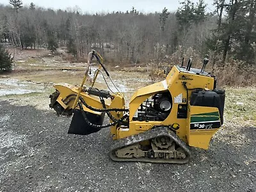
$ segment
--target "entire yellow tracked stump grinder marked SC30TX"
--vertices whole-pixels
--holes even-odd
[[[87,87],[84,83],[94,57],[99,68]],[[49,106],[58,115],[73,115],[69,134],[87,135],[110,127],[115,140],[110,157],[114,161],[182,164],[191,157],[189,146],[209,147],[223,124],[225,90],[218,90],[216,78],[205,72],[207,58],[201,69],[191,68],[191,59],[187,66],[183,61],[173,66],[164,81],[139,88],[129,108],[125,108],[124,95],[119,91],[94,87],[98,74],[103,76],[102,68],[113,83],[102,63],[100,54],[91,51],[81,86],[54,85]],[[109,122],[104,124],[106,115]]]

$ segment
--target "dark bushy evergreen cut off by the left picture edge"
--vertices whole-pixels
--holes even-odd
[[[0,72],[9,72],[12,70],[13,57],[0,44]]]

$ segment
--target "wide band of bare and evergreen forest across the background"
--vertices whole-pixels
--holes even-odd
[[[214,0],[206,12],[204,0],[180,2],[176,12],[81,13],[79,9],[52,10],[20,0],[0,5],[0,43],[15,49],[67,49],[68,59],[81,61],[91,49],[106,63],[151,65],[162,69],[193,58],[221,84],[256,83],[256,0]],[[163,5],[164,6],[164,5]],[[15,56],[15,52],[14,55]],[[67,56],[66,56],[67,58]],[[152,75],[158,75],[157,70]]]

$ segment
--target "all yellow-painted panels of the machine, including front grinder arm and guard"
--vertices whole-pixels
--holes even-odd
[[[186,84],[188,90],[184,88],[184,84]],[[67,97],[67,95],[74,95],[74,97],[79,92],[79,87],[72,86],[70,84],[56,84],[54,88],[60,92],[58,99],[56,100],[64,109],[72,109],[74,104],[74,99],[70,102],[63,102],[63,99]],[[205,116],[209,119],[208,122],[211,122],[212,119],[220,122],[219,109],[213,107],[202,107],[202,106],[191,106],[189,104],[189,98],[191,97],[191,92],[195,88],[202,88],[204,90],[213,90],[214,88],[214,78],[209,76],[202,76],[198,74],[191,74],[188,72],[182,72],[176,66],[172,68],[169,72],[168,76],[164,81],[151,84],[149,86],[140,88],[137,90],[134,95],[132,95],[131,100],[129,102],[129,127],[111,127],[111,135],[113,140],[118,140],[121,138],[126,138],[128,136],[140,134],[141,132],[148,131],[152,129],[154,126],[164,125],[170,126],[179,125],[179,129],[177,129],[177,135],[184,142],[188,143],[189,146],[199,147],[207,149],[209,146],[209,142],[213,134],[218,131],[220,127],[216,129],[207,129],[207,127],[200,127],[200,129],[191,130],[191,119],[195,118],[195,116],[199,116],[198,123],[205,122]],[[170,115],[163,121],[138,121],[132,120],[132,117],[138,111],[141,103],[147,100],[152,95],[161,92],[170,92],[172,95],[172,110]],[[73,98],[74,98],[73,97]],[[100,103],[99,97],[94,95],[90,95],[86,92],[81,92],[81,97],[86,100],[86,102],[93,106],[94,108],[102,109],[102,104]],[[177,113],[179,109],[179,105],[187,105],[188,106],[188,114],[186,118],[177,118]],[[124,108],[124,98],[121,94],[113,96],[113,99],[106,100],[107,108]],[[84,111],[88,111],[90,113],[94,113],[100,115],[100,113],[92,111],[91,109],[83,106]],[[111,114],[115,116],[115,118],[121,118],[123,116],[122,112],[112,111]],[[205,114],[200,116],[200,114]],[[212,115],[214,114],[214,115]],[[206,120],[207,122],[207,120]],[[199,127],[198,127],[199,128]]]

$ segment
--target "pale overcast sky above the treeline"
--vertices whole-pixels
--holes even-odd
[[[182,0],[181,0],[182,1]],[[196,3],[196,0],[191,0]],[[139,12],[162,12],[166,7],[168,11],[175,12],[179,7],[179,0],[22,0],[24,6],[29,6],[33,2],[36,6],[44,8],[52,8],[54,10],[77,10],[82,13],[101,13],[101,12],[113,12],[131,10],[132,6]],[[213,0],[205,0],[207,3],[207,12],[212,12],[214,6],[212,6]],[[9,4],[8,0],[0,0],[0,4]]]

